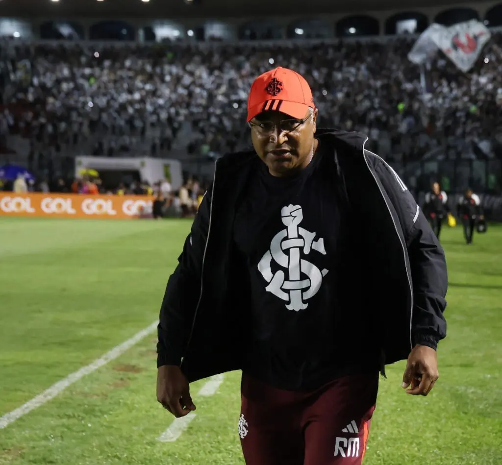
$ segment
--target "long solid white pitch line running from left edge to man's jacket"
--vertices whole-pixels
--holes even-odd
[[[131,339],[128,339],[127,341],[123,342],[122,344],[115,346],[109,352],[104,354],[101,358],[94,360],[94,362],[92,362],[90,365],[87,365],[86,367],[80,368],[80,370],[68,375],[66,378],[62,379],[61,381],[58,381],[56,384],[53,384],[50,388],[46,389],[44,392],[42,392],[38,396],[36,396],[33,399],[26,402],[26,404],[23,404],[21,407],[18,407],[16,410],[13,410],[12,412],[6,413],[4,416],[0,417],[0,429],[5,428],[6,426],[8,426],[11,423],[13,423],[14,421],[16,421],[18,418],[21,418],[23,415],[26,415],[28,412],[31,412],[32,410],[36,409],[37,407],[40,407],[41,405],[45,404],[49,400],[54,399],[54,397],[56,397],[61,391],[66,389],[71,384],[75,383],[76,381],[83,378],[84,376],[89,375],[90,373],[96,371],[98,368],[102,367],[103,365],[106,365],[111,360],[114,360],[117,357],[119,357],[120,355],[122,355],[124,352],[126,352],[128,349],[130,349],[135,344],[140,342],[146,336],[153,333],[154,330],[157,328],[158,323],[159,323],[158,321],[152,323],[150,326],[148,326],[144,330],[135,334]]]

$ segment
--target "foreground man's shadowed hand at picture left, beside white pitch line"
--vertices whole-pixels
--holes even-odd
[[[163,365],[157,371],[157,401],[180,418],[195,410],[186,376],[176,365]]]

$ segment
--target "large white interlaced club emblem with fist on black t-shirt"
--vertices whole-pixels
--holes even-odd
[[[322,237],[314,241],[315,232],[299,227],[303,220],[302,207],[299,205],[283,207],[281,217],[286,229],[274,236],[270,250],[265,252],[258,263],[258,269],[269,283],[266,290],[288,302],[286,304],[288,310],[298,312],[307,308],[306,300],[317,293],[322,278],[328,272],[325,268],[321,271],[301,256],[309,255],[312,250],[326,255],[326,250]],[[279,270],[273,273],[272,260],[286,271]]]

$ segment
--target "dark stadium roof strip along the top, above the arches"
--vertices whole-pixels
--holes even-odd
[[[20,18],[242,18],[458,6],[458,0],[0,0],[0,16]]]

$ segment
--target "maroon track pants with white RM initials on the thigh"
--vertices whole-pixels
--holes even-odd
[[[246,465],[361,465],[378,378],[345,376],[293,392],[243,374],[238,431]]]

